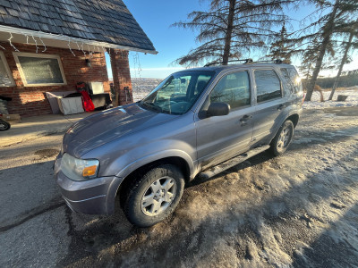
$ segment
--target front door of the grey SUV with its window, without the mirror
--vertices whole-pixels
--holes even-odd
[[[210,92],[206,103],[226,103],[231,106],[224,116],[195,119],[197,152],[201,169],[226,161],[247,150],[252,138],[251,80],[248,70],[223,75]],[[202,108],[205,109],[205,108]]]

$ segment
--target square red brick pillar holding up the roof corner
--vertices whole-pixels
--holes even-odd
[[[132,104],[132,80],[129,69],[128,51],[111,49],[110,59],[115,88],[115,106]]]

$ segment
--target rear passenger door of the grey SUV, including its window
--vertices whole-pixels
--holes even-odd
[[[263,143],[277,130],[286,108],[281,80],[274,68],[257,67],[252,70],[255,83],[256,107],[253,123],[253,142]]]

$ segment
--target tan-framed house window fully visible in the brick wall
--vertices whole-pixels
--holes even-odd
[[[25,87],[66,84],[60,56],[15,52],[13,56]]]

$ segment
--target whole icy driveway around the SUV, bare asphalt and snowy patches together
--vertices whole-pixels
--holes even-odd
[[[50,170],[60,139],[0,157],[1,267],[358,266],[358,107],[305,110],[285,155],[265,152],[192,183],[175,214],[145,229],[120,211],[64,205]],[[13,171],[21,178],[9,179]],[[8,190],[17,180],[22,203]]]

